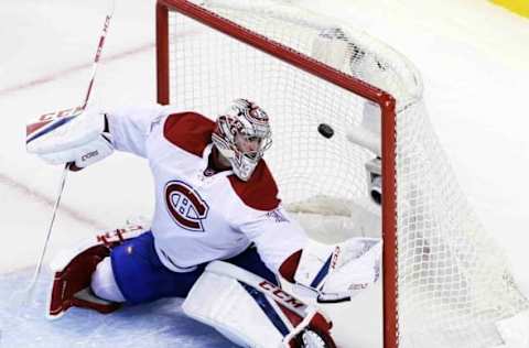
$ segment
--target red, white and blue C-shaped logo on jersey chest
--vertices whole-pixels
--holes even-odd
[[[173,220],[182,228],[203,232],[202,220],[209,207],[186,183],[174,181],[165,185],[165,204]]]

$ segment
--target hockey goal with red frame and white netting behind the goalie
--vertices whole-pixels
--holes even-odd
[[[528,302],[462,195],[403,56],[287,1],[159,0],[156,59],[162,105],[214,118],[245,97],[268,111],[266,159],[285,204],[348,202],[381,214],[386,348],[503,342],[496,323]],[[369,121],[380,116],[381,126]],[[381,153],[347,140],[366,127]],[[365,171],[380,154],[381,213]]]

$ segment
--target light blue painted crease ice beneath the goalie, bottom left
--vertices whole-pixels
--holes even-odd
[[[71,308],[57,320],[45,318],[50,271],[41,274],[25,307],[32,269],[0,274],[0,347],[236,347],[213,328],[188,318],[180,298],[128,306],[111,314]]]

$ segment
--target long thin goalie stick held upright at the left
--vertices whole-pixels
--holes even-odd
[[[107,36],[107,33],[108,33],[108,26],[110,25],[110,20],[112,19],[115,8],[116,8],[116,0],[111,0],[110,8],[107,11],[107,15],[105,18],[102,32],[101,32],[101,35],[99,37],[99,42],[98,42],[98,45],[97,45],[96,56],[94,57],[94,63],[91,65],[90,80],[88,83],[88,88],[86,90],[85,100],[83,102],[83,107],[80,108],[80,110],[84,110],[86,108],[86,106],[88,105],[88,100],[89,100],[90,94],[91,94],[91,88],[94,86],[94,80],[96,78],[97,66],[98,66],[98,63],[99,63],[99,58],[101,56],[102,46],[105,45],[105,39]],[[37,280],[39,280],[39,275],[41,274],[42,264],[44,262],[44,257],[46,254],[47,246],[50,243],[50,238],[52,236],[53,225],[55,224],[55,217],[57,215],[57,209],[58,209],[58,206],[61,204],[61,197],[63,195],[64,186],[66,185],[66,177],[67,177],[69,166],[71,166],[71,163],[67,163],[63,168],[63,175],[62,175],[61,183],[60,183],[58,191],[57,191],[57,195],[56,195],[56,198],[55,198],[55,204],[53,206],[52,218],[50,219],[50,224],[48,224],[48,227],[47,227],[47,232],[46,232],[46,238],[44,240],[44,246],[42,248],[42,252],[41,252],[39,261],[36,263],[35,271],[33,273],[33,278],[32,278],[32,280],[31,280],[31,282],[28,285],[28,289],[25,291],[26,300],[32,297],[34,287],[36,285]]]

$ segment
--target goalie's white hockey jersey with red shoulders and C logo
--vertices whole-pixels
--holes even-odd
[[[175,272],[237,255],[252,242],[267,267],[302,249],[306,236],[281,207],[263,160],[248,182],[231,171],[205,173],[215,123],[169,107],[107,115],[117,150],[147,157],[154,177],[152,233],[162,263]]]

